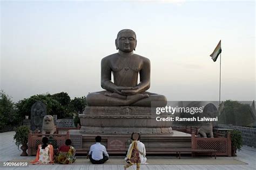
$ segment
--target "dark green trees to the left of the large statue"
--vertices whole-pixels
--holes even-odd
[[[12,130],[22,124],[25,115],[29,116],[32,105],[41,101],[46,105],[48,115],[57,115],[58,119],[72,117],[75,124],[79,123],[78,113],[86,107],[86,98],[75,97],[71,100],[68,93],[39,94],[24,98],[17,103],[11,97],[0,91],[0,132]]]

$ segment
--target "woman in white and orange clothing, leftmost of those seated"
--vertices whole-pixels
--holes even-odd
[[[48,138],[43,137],[42,145],[38,145],[36,159],[31,164],[53,164],[53,146],[48,144]]]

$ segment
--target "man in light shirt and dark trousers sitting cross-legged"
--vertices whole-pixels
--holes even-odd
[[[90,147],[89,158],[92,164],[104,164],[109,159],[109,154],[107,154],[106,147],[100,144],[102,137],[96,136],[95,141],[96,144]]]

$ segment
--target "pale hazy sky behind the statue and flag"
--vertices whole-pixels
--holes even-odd
[[[252,101],[254,1],[1,1],[1,89],[17,102],[35,94],[86,96],[100,87],[100,60],[118,31],[137,34],[151,60],[151,87],[168,101]]]

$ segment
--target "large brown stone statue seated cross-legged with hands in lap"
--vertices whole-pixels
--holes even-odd
[[[89,93],[86,97],[89,106],[151,107],[151,102],[159,103],[159,107],[166,105],[165,96],[146,91],[150,88],[150,60],[133,53],[136,45],[134,31],[118,32],[118,53],[106,56],[101,62],[101,86],[105,90]]]

